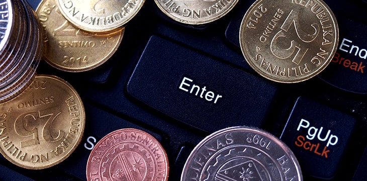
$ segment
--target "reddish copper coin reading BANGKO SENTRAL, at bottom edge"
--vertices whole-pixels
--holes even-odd
[[[103,137],[90,152],[87,180],[165,181],[168,158],[160,143],[138,129],[120,129]]]

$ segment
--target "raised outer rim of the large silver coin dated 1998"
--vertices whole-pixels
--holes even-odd
[[[181,172],[181,177],[180,177],[180,181],[186,181],[184,179],[184,177],[186,176],[189,166],[191,164],[192,161],[194,161],[193,159],[195,158],[195,155],[197,155],[197,153],[199,153],[199,149],[208,141],[210,141],[212,138],[215,138],[219,135],[223,135],[224,133],[227,132],[232,132],[232,131],[249,131],[252,133],[257,133],[263,136],[266,136],[268,139],[270,139],[271,141],[274,141],[277,145],[279,145],[285,152],[285,154],[287,154],[292,162],[295,165],[295,168],[297,170],[298,173],[298,178],[300,181],[303,180],[303,176],[302,176],[302,170],[301,170],[301,166],[295,156],[295,154],[293,153],[293,151],[282,141],[280,140],[278,137],[274,136],[273,134],[262,130],[260,128],[256,128],[256,127],[250,127],[250,126],[235,126],[235,127],[228,127],[228,128],[224,128],[221,130],[218,130],[210,135],[208,135],[207,137],[205,137],[203,140],[201,140],[195,147],[194,149],[191,151],[189,157],[187,158],[184,168],[182,169]]]

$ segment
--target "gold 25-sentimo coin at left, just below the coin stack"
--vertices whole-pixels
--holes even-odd
[[[75,89],[56,76],[37,75],[22,94],[0,104],[0,152],[20,167],[47,168],[74,151],[84,125]]]

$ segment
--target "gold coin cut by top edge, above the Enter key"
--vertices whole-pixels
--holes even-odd
[[[173,20],[200,25],[210,23],[226,15],[238,0],[154,0],[158,8]]]

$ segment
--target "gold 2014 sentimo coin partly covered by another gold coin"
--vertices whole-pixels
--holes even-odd
[[[55,0],[43,0],[37,15],[44,28],[45,60],[53,67],[87,71],[106,62],[119,47],[124,31],[108,34],[87,33],[72,26],[60,13]]]

